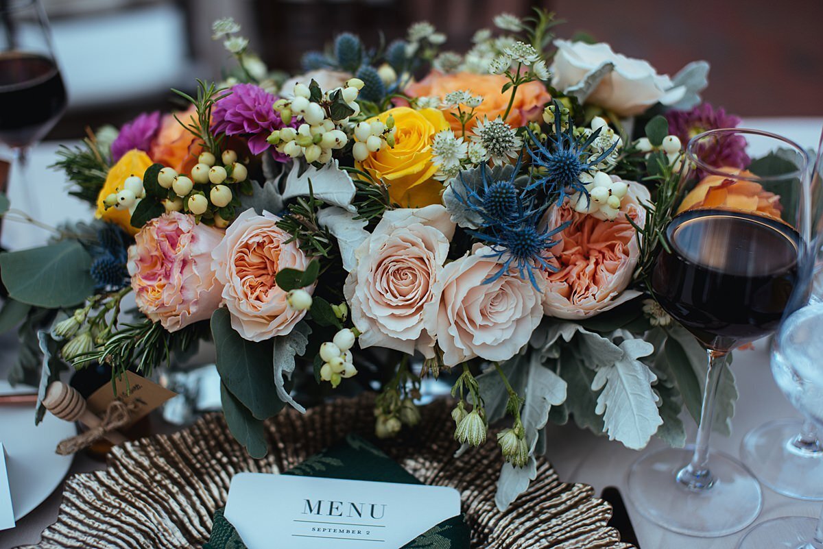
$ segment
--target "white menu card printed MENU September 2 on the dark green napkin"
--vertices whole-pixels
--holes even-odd
[[[249,549],[398,549],[460,514],[450,487],[238,473],[226,519]]]

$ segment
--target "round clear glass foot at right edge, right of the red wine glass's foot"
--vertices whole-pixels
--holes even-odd
[[[750,431],[740,446],[742,462],[766,487],[799,500],[823,501],[823,450],[792,445],[799,419],[768,422]]]

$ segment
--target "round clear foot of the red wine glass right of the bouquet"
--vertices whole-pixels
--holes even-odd
[[[763,494],[746,466],[727,454],[709,453],[715,478],[711,487],[690,491],[677,482],[677,472],[689,463],[694,446],[645,454],[629,470],[629,497],[654,524],[696,537],[720,537],[754,522]]]

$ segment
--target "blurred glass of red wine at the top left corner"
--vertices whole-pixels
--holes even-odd
[[[0,143],[16,151],[23,182],[30,146],[49,133],[66,104],[43,6],[0,0]]]

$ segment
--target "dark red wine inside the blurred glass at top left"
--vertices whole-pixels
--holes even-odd
[[[0,142],[13,148],[40,141],[66,108],[66,88],[52,59],[0,53]]]

